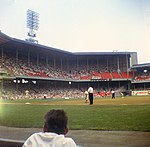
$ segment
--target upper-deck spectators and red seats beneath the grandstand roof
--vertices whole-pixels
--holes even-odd
[[[90,79],[115,79],[127,78],[127,72],[122,74],[118,71],[117,66],[106,67],[105,64],[80,63],[77,67],[75,64],[70,65],[69,70],[66,67],[63,69],[60,66],[55,66],[51,63],[45,65],[36,61],[27,61],[27,59],[16,59],[11,55],[3,55],[0,58],[3,67],[12,75],[15,76],[33,76],[43,78],[59,78],[59,79],[75,79],[75,80],[90,80]],[[65,66],[65,65],[64,65]],[[124,75],[124,76],[123,76]],[[131,78],[131,77],[130,77]]]

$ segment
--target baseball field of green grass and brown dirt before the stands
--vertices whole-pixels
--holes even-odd
[[[93,106],[84,99],[0,100],[0,125],[41,128],[50,109],[64,109],[70,129],[150,131],[150,96],[96,98]]]

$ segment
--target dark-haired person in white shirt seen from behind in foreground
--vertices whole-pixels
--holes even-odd
[[[64,110],[50,110],[44,116],[43,132],[34,133],[23,147],[76,147],[72,138],[65,137],[68,117]]]

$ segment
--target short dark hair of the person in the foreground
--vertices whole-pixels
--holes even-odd
[[[67,128],[68,117],[64,110],[52,109],[45,114],[44,119],[48,132],[61,134]]]

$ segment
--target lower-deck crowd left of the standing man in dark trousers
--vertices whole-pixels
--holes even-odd
[[[82,98],[84,92],[81,89],[62,86],[35,86],[28,87],[20,84],[4,84],[1,99],[47,99],[47,98]]]

